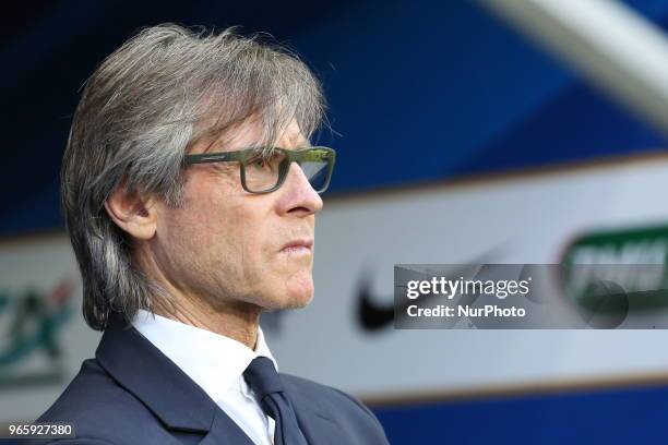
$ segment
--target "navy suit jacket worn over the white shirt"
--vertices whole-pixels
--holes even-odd
[[[355,398],[281,374],[311,445],[387,444],[378,419]],[[95,359],[37,422],[72,422],[67,444],[252,445],[243,431],[134,327],[114,317]],[[44,442],[35,442],[44,443]]]

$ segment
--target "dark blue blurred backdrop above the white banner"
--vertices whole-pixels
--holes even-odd
[[[31,3],[31,2],[27,2]],[[632,1],[665,26],[665,1]],[[141,26],[243,24],[295,48],[339,134],[332,193],[646,152],[665,139],[468,1],[46,1],[5,15],[0,234],[62,227],[58,171],[77,89]],[[21,10],[20,10],[21,11]],[[577,112],[573,112],[577,110]],[[613,129],[613,130],[611,130]]]

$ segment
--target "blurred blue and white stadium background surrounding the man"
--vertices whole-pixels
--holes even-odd
[[[264,317],[282,371],[393,444],[665,437],[666,330],[396,330],[395,263],[668,258],[668,1],[24,1],[0,26],[0,422],[92,357],[58,204],[77,89],[142,26],[264,31],[321,77],[338,165],[317,292]],[[663,310],[663,309],[657,309]]]

